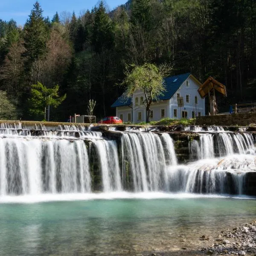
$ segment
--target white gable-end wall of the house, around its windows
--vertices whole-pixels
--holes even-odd
[[[175,94],[170,99],[170,117],[174,117],[174,109],[177,109],[177,119],[181,118],[180,108],[177,105],[177,93],[180,93],[180,97],[183,97],[184,107],[181,111],[187,111],[188,119],[192,118],[192,111],[195,112],[195,116],[198,116],[198,112],[201,112],[201,116],[205,115],[205,100],[201,98],[198,93],[199,85],[192,79],[191,76],[187,79],[189,81],[189,87],[186,87],[186,81],[180,86]],[[186,94],[189,95],[189,103],[186,102]],[[195,104],[195,96],[198,98],[198,104]]]

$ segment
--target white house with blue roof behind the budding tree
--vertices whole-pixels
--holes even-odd
[[[161,118],[195,118],[205,115],[205,100],[198,89],[201,83],[190,73],[169,76],[164,79],[165,91],[159,96],[159,102],[151,105],[151,121]],[[183,97],[184,106],[178,107],[177,98]],[[120,96],[111,106],[116,108],[116,116],[123,122],[140,123],[146,121],[143,91],[136,90],[132,98]]]

